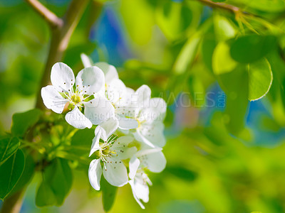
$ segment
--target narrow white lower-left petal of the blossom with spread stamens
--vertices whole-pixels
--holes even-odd
[[[100,165],[100,161],[100,159],[92,160],[88,170],[90,184],[95,190],[100,190],[100,179],[102,175],[102,167]]]

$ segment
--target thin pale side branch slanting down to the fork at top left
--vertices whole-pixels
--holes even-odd
[[[43,6],[38,0],[25,0],[34,11],[36,11],[41,17],[43,17],[46,22],[51,26],[51,28],[61,27],[63,25],[63,20],[58,18],[55,13],[51,12]]]

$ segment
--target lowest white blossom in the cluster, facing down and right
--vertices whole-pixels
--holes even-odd
[[[140,204],[142,209],[145,209],[145,207],[141,200],[148,202],[150,193],[148,185],[152,185],[145,170],[160,173],[165,169],[166,159],[161,150],[161,148],[151,148],[138,151],[138,153],[130,159],[129,184],[132,187],[135,200]]]

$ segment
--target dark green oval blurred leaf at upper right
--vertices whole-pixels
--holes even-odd
[[[263,58],[275,47],[273,35],[244,35],[234,40],[230,53],[237,62],[250,63]]]

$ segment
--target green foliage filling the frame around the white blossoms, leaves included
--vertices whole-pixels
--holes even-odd
[[[150,176],[146,210],[126,186],[110,212],[285,212],[284,1],[100,2],[95,23],[88,5],[63,62],[78,72],[81,53],[106,60],[128,87],[148,84],[169,104],[167,168]],[[44,4],[62,16],[68,1]],[[0,197],[31,181],[22,212],[103,212],[100,195],[109,209],[116,189],[89,185],[93,129],[33,109],[49,40],[28,5],[0,1]]]

